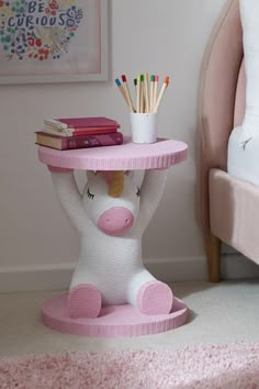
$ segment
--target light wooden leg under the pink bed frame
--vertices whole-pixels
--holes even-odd
[[[221,278],[221,240],[210,232],[204,237],[209,280],[218,282]]]

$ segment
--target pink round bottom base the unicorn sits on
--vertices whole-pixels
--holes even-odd
[[[70,319],[67,293],[47,300],[42,305],[43,323],[56,331],[87,336],[140,336],[158,334],[183,325],[188,308],[174,298],[171,313],[147,316],[132,305],[109,305],[97,319]]]

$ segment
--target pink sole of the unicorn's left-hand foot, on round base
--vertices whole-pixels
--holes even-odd
[[[101,308],[101,293],[91,284],[79,284],[68,293],[68,310],[71,319],[98,318]]]

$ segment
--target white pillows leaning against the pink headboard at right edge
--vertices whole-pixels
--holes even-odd
[[[259,184],[259,1],[240,0],[246,68],[246,110],[241,126],[234,129],[228,142],[228,173]]]

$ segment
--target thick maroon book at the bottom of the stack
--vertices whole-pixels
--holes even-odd
[[[35,134],[36,144],[57,149],[112,146],[123,143],[123,134],[121,132],[77,136],[50,135],[43,131],[36,131]]]

